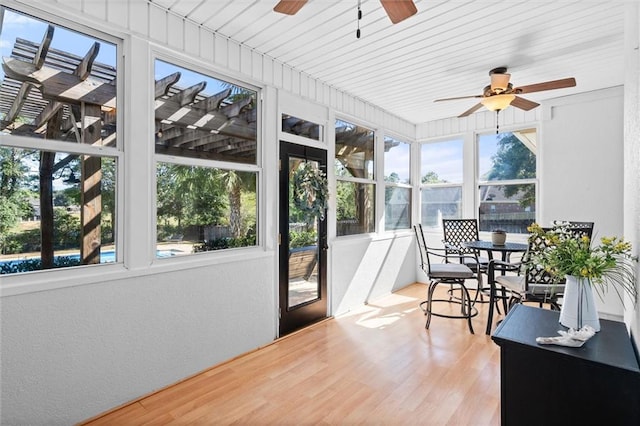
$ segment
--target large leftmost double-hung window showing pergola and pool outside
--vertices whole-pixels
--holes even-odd
[[[2,12],[0,272],[116,262],[116,45]]]

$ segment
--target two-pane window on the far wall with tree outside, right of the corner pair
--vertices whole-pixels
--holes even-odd
[[[536,220],[535,129],[478,136],[481,231],[526,233]]]

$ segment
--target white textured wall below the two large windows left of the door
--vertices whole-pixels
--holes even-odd
[[[271,256],[8,296],[2,425],[72,424],[273,340]]]

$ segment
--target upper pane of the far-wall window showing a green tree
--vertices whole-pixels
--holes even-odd
[[[535,129],[478,136],[480,181],[536,177]]]

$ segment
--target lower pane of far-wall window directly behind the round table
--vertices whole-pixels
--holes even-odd
[[[480,185],[480,230],[527,233],[536,220],[535,184]]]

